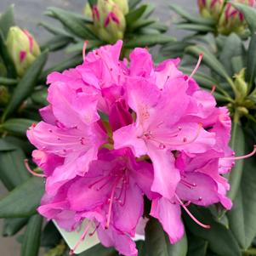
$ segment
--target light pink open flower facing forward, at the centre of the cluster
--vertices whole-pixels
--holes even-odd
[[[203,129],[201,123],[182,121],[191,102],[187,89],[184,78],[169,80],[162,90],[144,78],[131,78],[127,83],[128,105],[137,120],[113,136],[115,148],[129,146],[135,156],[151,157],[155,172],[151,190],[168,198],[174,196],[180,179],[171,151],[205,152],[215,143],[215,134]]]

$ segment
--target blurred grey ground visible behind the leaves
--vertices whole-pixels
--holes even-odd
[[[196,0],[145,0],[144,3],[153,3],[156,6],[154,16],[162,20],[169,26],[168,33],[174,37],[180,38],[184,31],[176,31],[173,21],[176,14],[168,9],[168,3],[178,3],[190,12],[196,12]],[[54,22],[50,18],[43,15],[48,6],[60,7],[71,11],[82,13],[82,9],[86,0],[0,0],[0,13],[14,3],[16,24],[22,28],[26,28],[37,39],[43,43],[50,37],[47,31],[37,26],[39,21]],[[49,60],[50,63],[57,62],[63,58],[63,53],[53,54]],[[0,183],[0,197],[5,194],[5,189]],[[2,233],[3,221],[0,219],[0,232]],[[0,233],[0,234],[1,234]],[[20,245],[15,238],[3,238],[0,236],[0,255],[1,256],[18,256],[20,255]]]

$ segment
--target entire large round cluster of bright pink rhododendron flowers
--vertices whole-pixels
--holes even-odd
[[[236,157],[229,112],[198,87],[196,70],[185,76],[179,60],[154,66],[145,48],[119,60],[121,49],[122,41],[107,45],[84,55],[82,65],[50,74],[43,122],[27,136],[46,177],[39,213],[65,230],[89,219],[105,247],[134,256],[145,197],[170,242],[178,242],[181,208],[205,228],[188,204],[231,208],[222,174]]]

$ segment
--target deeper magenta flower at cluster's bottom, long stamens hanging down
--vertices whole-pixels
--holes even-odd
[[[54,196],[46,194],[38,211],[66,230],[75,229],[89,214],[105,246],[137,255],[132,237],[143,214],[143,195],[156,196],[152,180],[151,163],[135,162],[129,149],[101,150],[87,174],[62,185]]]

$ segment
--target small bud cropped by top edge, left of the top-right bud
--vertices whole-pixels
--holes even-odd
[[[199,11],[202,17],[219,20],[225,0],[198,0]]]

